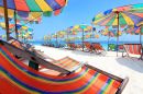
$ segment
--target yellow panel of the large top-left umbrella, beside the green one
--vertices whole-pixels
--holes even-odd
[[[45,0],[35,0],[43,12],[53,11]]]

